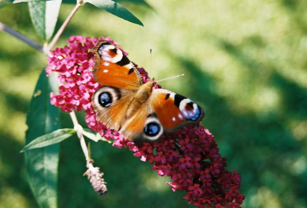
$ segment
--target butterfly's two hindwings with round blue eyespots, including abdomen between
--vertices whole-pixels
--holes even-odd
[[[149,100],[140,103],[134,98],[135,94],[135,91],[123,88],[100,87],[92,96],[96,120],[110,129],[119,130],[124,138],[136,145],[157,141],[163,134],[163,127]]]

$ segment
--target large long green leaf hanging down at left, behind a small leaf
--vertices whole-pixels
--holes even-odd
[[[55,74],[46,77],[42,71],[27,114],[26,144],[35,138],[60,128],[60,109],[50,104],[50,92],[57,94]],[[40,207],[57,207],[57,176],[59,144],[24,153],[29,185]]]

